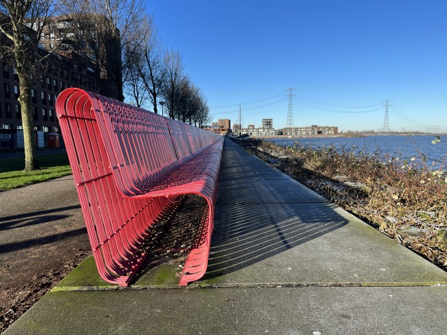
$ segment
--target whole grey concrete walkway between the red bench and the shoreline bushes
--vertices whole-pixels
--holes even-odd
[[[116,289],[87,259],[5,334],[445,332],[447,273],[228,140],[208,273],[175,270]]]

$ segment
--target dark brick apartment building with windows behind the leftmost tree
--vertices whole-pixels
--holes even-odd
[[[50,41],[56,36],[45,35],[47,41],[42,41],[40,51],[47,52],[45,45],[50,46]],[[0,41],[4,41],[0,36]],[[65,42],[65,41],[63,41]],[[117,69],[121,69],[121,59],[114,60]],[[63,89],[78,87],[95,93],[102,93],[108,88],[107,95],[113,99],[119,99],[122,91],[116,89],[116,83],[107,78],[105,69],[98,69],[96,62],[76,52],[67,53],[67,49],[61,49],[58,54],[53,54],[45,64],[46,70],[34,78],[32,85],[32,115],[34,130],[38,147],[47,146],[47,135],[60,133],[58,119],[54,105],[57,96]],[[13,150],[21,148],[21,109],[19,101],[19,80],[15,69],[7,62],[0,59],[0,150]]]

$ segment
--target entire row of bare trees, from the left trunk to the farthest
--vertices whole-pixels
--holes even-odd
[[[0,0],[0,57],[19,78],[25,170],[39,169],[31,89],[68,34],[72,51],[96,64],[98,82],[110,82],[101,80],[105,76],[112,79],[112,85],[100,84],[100,94],[113,91],[119,100],[142,107],[150,102],[155,113],[163,100],[169,117],[206,123],[206,100],[184,73],[178,51],[162,45],[145,11],[143,0]],[[71,26],[58,30],[57,17],[67,18]],[[58,42],[43,51],[41,40],[55,30]],[[119,58],[122,66],[109,66]]]

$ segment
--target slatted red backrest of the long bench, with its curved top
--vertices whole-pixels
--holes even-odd
[[[113,176],[127,196],[142,194],[151,184],[157,185],[180,164],[220,138],[212,132],[80,89],[67,89],[59,98],[58,102],[67,104],[76,101],[77,105],[91,105],[83,106],[83,117],[95,114]]]

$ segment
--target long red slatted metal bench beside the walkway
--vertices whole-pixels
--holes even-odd
[[[100,276],[127,286],[153,223],[176,196],[198,194],[208,211],[179,285],[201,278],[223,137],[81,89],[63,91],[56,112]]]

